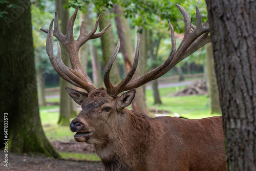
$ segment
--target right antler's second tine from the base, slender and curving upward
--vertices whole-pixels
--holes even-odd
[[[121,93],[120,91],[132,78],[133,75],[136,71],[136,68],[138,66],[138,61],[139,61],[139,48],[140,48],[140,37],[139,34],[137,34],[137,46],[136,46],[136,51],[135,51],[135,57],[133,61],[133,66],[131,67],[131,70],[129,73],[123,78],[123,80],[116,86],[116,89],[118,90],[114,96],[117,94]]]

